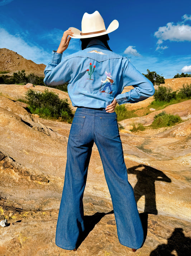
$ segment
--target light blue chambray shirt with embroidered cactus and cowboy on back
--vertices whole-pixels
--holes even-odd
[[[112,100],[118,104],[135,103],[154,94],[151,81],[126,57],[108,50],[100,40],[91,40],[87,48],[63,58],[52,51],[52,60],[44,70],[46,85],[68,83],[74,107],[106,108]],[[122,93],[124,86],[134,89]]]

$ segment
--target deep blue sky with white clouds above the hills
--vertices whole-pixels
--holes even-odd
[[[191,73],[190,0],[0,0],[0,48],[16,51],[40,64],[51,60],[68,27],[81,30],[85,12],[98,10],[105,27],[117,19],[110,48],[125,55],[142,73],[156,71],[165,78]],[[72,39],[64,55],[80,50]]]

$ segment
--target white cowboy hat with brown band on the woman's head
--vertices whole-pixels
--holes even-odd
[[[82,18],[82,31],[77,28],[70,27],[73,32],[72,38],[89,38],[95,36],[101,36],[113,32],[119,27],[119,22],[114,19],[108,27],[105,29],[104,20],[98,11],[92,14],[84,13]]]

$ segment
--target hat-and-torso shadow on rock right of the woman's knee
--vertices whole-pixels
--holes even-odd
[[[162,171],[142,164],[127,169],[127,172],[128,174],[137,175],[137,184],[134,187],[136,202],[138,202],[142,196],[145,196],[144,212],[157,215],[155,181],[170,183],[171,179]]]

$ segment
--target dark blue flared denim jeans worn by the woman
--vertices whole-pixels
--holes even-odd
[[[143,243],[143,228],[133,188],[128,182],[116,113],[83,107],[76,110],[68,139],[56,245],[73,250],[84,231],[82,199],[94,142],[111,194],[119,242],[138,249]]]

